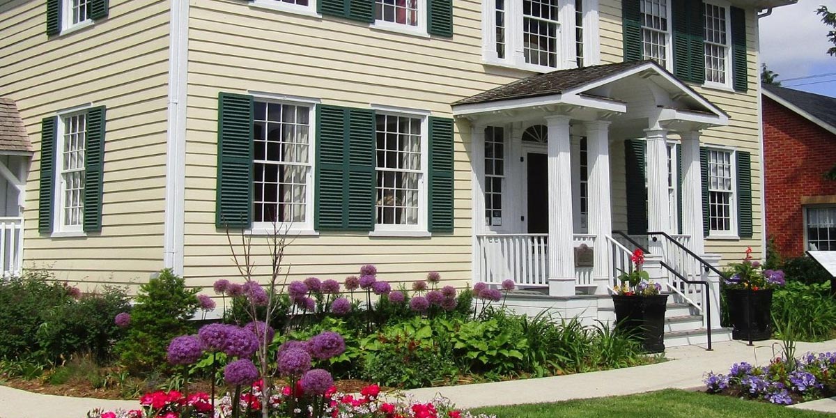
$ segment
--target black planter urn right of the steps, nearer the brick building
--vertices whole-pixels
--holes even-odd
[[[772,289],[726,289],[726,305],[732,321],[732,339],[761,341],[772,336]]]

